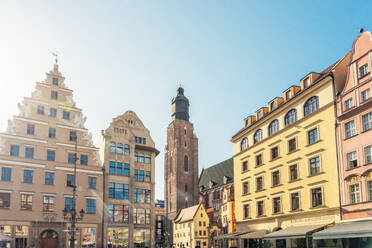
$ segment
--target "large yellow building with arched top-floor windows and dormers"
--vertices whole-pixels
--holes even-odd
[[[306,75],[233,136],[236,229],[251,231],[242,247],[306,247],[312,232],[340,221],[334,96],[349,59]]]

